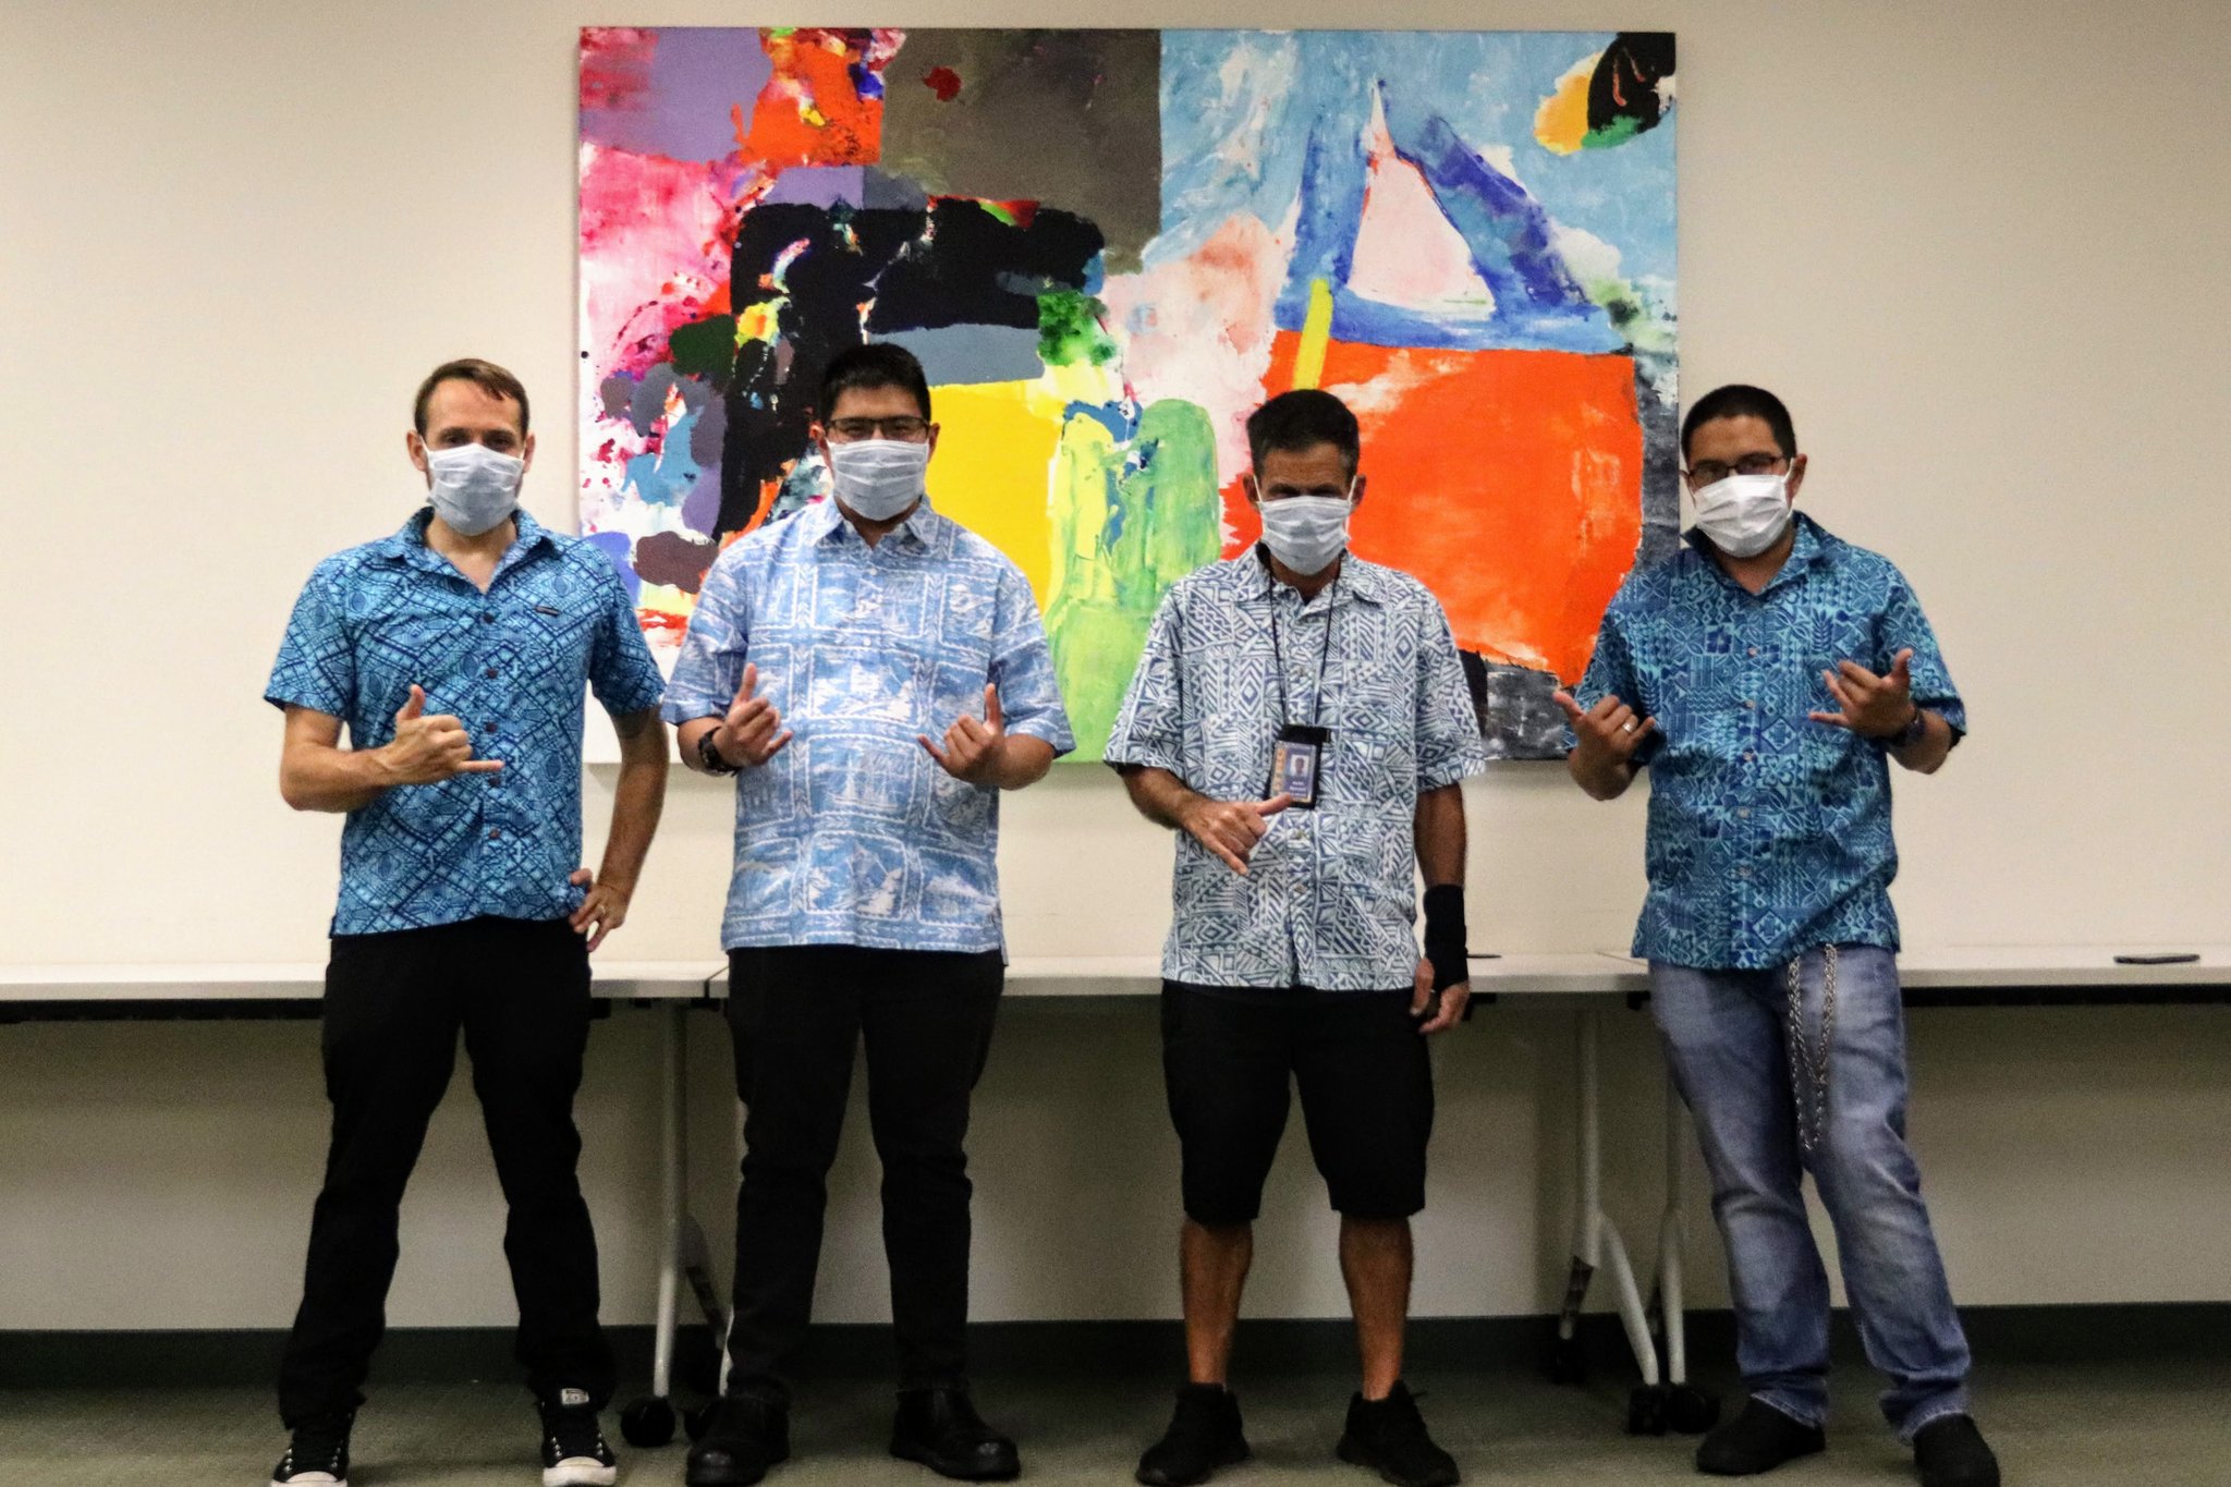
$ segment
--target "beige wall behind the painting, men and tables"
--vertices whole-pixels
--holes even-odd
[[[337,823],[279,805],[277,718],[257,696],[310,564],[411,506],[404,399],[426,366],[473,352],[527,377],[544,410],[529,502],[569,524],[573,27],[857,16],[542,0],[29,11],[0,51],[0,624],[16,700],[0,720],[0,956],[308,959]],[[1276,13],[1356,18],[1325,0]],[[1611,18],[1680,31],[1687,386],[1740,377],[1789,397],[1814,455],[1807,506],[1905,566],[1970,700],[1972,742],[1941,778],[1901,787],[1910,941],[2231,939],[2220,7],[1435,0],[1368,20]],[[596,771],[593,834],[609,789]],[[1640,798],[1593,807],[1537,765],[1468,798],[1477,945],[1624,943]],[[1111,778],[1057,771],[1006,820],[1020,954],[1158,943],[1169,843]],[[614,950],[707,952],[725,861],[721,791],[680,780]],[[701,1030],[701,1206],[718,1215],[721,1039]],[[2206,1242],[2231,1217],[2220,1012],[1945,1012],[1916,1021],[1914,1046],[1916,1139],[1963,1298],[2231,1295],[2231,1253]],[[1421,1311],[1546,1309],[1568,1202],[1566,1030],[1493,1012],[1441,1057]],[[609,1313],[638,1320],[649,1021],[609,1023],[593,1063]],[[1646,1235],[1655,1075],[1640,1019],[1613,1028],[1611,1068],[1635,1090],[1613,1130],[1638,1150],[1615,1190]],[[0,1028],[0,1326],[283,1322],[321,1119],[308,1026]],[[979,1133],[986,1315],[1174,1311],[1158,1260],[1174,1153],[1145,1008],[1015,1008]],[[457,1099],[411,1197],[399,1324],[504,1320],[491,1188]],[[1319,1208],[1296,1148],[1258,1311],[1341,1309]],[[1709,1275],[1709,1224],[1696,1231]],[[1127,1264],[1142,1248],[1156,1260]],[[118,1284],[154,1266],[203,1284]],[[839,1173],[828,1277],[828,1315],[881,1313],[863,1141]]]

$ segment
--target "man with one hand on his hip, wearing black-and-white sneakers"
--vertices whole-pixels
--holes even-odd
[[[317,566],[265,687],[286,709],[281,796],[348,816],[323,1001],[332,1150],[279,1376],[292,1442],[272,1483],[348,1480],[397,1208],[462,1034],[509,1204],[542,1483],[596,1487],[616,1480],[596,1420],[614,1360],[573,1090],[589,952],[627,919],[665,798],[658,667],[611,562],[518,508],[533,435],[511,372],[435,368],[404,446],[428,506]],[[580,867],[582,678],[620,733],[593,876]]]

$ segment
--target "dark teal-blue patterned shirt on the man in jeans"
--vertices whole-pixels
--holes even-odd
[[[1696,537],[1629,577],[1575,689],[1582,707],[1615,693],[1658,720],[1635,751],[1651,774],[1638,956],[1767,970],[1818,945],[1899,947],[1890,751],[1807,713],[1838,711],[1823,671],[1885,673],[1908,647],[1914,702],[1954,733],[1968,709],[1905,575],[1794,522],[1789,562],[1756,595]]]

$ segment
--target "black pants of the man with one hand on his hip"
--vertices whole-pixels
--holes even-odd
[[[301,1311],[279,1367],[279,1416],[290,1429],[364,1400],[386,1331],[404,1184],[448,1088],[460,1030],[511,1208],[504,1257],[529,1387],[587,1389],[598,1405],[611,1398],[611,1347],[596,1322],[596,1233],[573,1177],[589,954],[562,919],[473,919],[332,939],[323,1030],[332,1148]]]

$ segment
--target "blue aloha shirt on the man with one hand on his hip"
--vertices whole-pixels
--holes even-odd
[[[348,811],[335,934],[571,914],[582,684],[616,718],[658,704],[658,664],[602,551],[522,511],[482,593],[426,546],[431,517],[317,564],[263,700],[339,718],[348,747],[377,749],[415,682],[428,713],[455,713],[473,754],[504,767]]]

